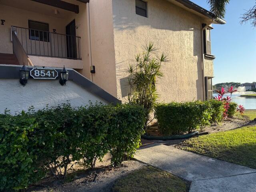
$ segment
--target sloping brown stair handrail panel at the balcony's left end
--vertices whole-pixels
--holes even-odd
[[[12,46],[13,46],[13,52],[16,58],[18,59],[18,62],[20,65],[24,64],[24,65],[34,66],[31,60],[28,58],[28,55],[26,54],[24,48],[22,47],[22,44],[20,43],[14,31],[12,31]]]

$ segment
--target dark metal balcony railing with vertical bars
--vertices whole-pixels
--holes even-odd
[[[81,58],[80,37],[12,26],[26,54],[68,59]]]

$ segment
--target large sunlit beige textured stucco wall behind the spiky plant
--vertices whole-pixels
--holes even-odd
[[[142,45],[154,42],[170,62],[158,80],[160,101],[203,99],[202,18],[166,0],[148,0],[148,18],[136,15],[135,0],[113,0],[118,99],[126,100],[126,70]]]

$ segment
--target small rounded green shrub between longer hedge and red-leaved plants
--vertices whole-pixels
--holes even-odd
[[[220,122],[223,119],[223,113],[225,111],[222,101],[211,99],[206,101],[210,104],[212,109],[212,119],[210,122]]]

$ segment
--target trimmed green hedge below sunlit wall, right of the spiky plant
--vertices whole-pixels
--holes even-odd
[[[202,101],[171,102],[156,106],[158,127],[165,136],[184,134],[210,124],[212,110],[210,104]]]

